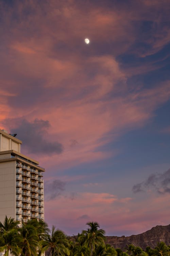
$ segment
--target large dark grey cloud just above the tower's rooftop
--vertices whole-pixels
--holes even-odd
[[[63,152],[61,143],[51,142],[48,139],[47,129],[50,128],[48,120],[35,119],[29,122],[19,118],[6,119],[4,123],[11,127],[11,133],[17,133],[18,138],[23,142],[22,147],[30,153],[51,155]]]

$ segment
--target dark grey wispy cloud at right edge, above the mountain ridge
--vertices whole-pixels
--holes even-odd
[[[159,194],[170,193],[170,169],[164,173],[151,174],[145,181],[133,186],[134,193],[154,190]]]

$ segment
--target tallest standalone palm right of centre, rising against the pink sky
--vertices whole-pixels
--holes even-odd
[[[104,244],[105,231],[103,229],[99,229],[100,226],[97,222],[88,222],[87,225],[89,228],[87,230],[83,230],[78,239],[80,243],[83,243],[85,246],[89,246],[90,256],[92,256],[95,246]]]

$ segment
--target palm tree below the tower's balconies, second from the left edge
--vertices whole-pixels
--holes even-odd
[[[32,223],[22,223],[20,232],[20,248],[21,256],[36,255],[39,247],[39,237],[36,228]]]

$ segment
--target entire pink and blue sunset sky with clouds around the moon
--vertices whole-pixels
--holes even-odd
[[[49,227],[170,224],[169,13],[169,0],[0,1],[0,128],[46,169]]]

